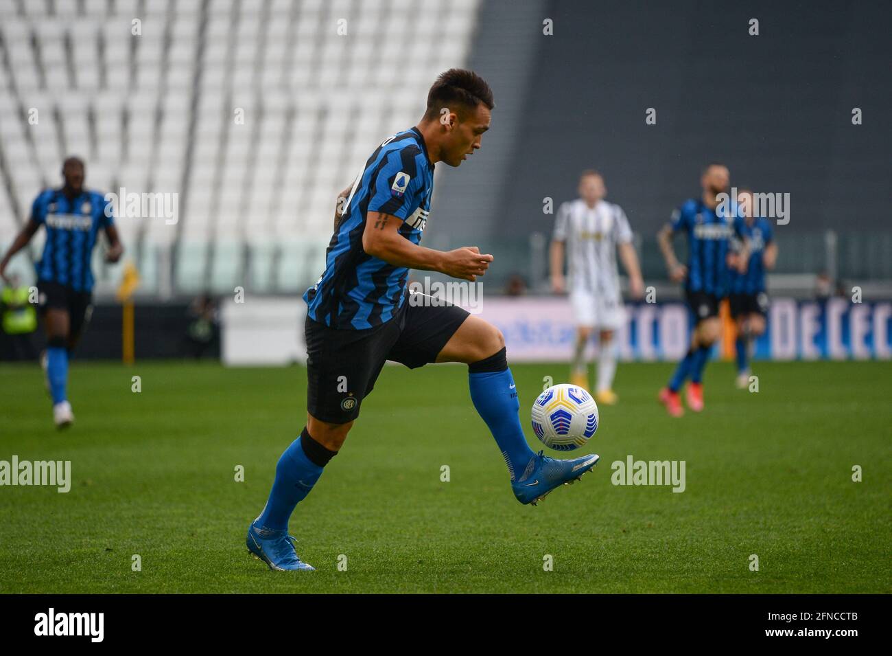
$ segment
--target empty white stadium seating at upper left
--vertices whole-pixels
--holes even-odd
[[[477,4],[0,0],[0,247],[77,154],[88,187],[178,194],[176,224],[118,219],[143,293],[301,291],[337,192],[467,63]]]

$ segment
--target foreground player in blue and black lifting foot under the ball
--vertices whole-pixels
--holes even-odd
[[[304,295],[307,425],[282,453],[266,507],[248,527],[248,550],[269,569],[313,569],[298,558],[288,519],[341,449],[387,360],[410,369],[467,363],[471,401],[521,503],[537,502],[599,460],[596,454],[555,460],[533,453],[517,417],[500,331],[458,306],[418,303],[424,298],[410,300],[407,293],[410,269],[474,281],[492,262],[474,246],[442,252],[418,243],[429,219],[434,165],[456,167],[474,154],[493,106],[490,87],[473,71],[442,73],[417,126],[385,139],[342,194],[326,270]],[[405,394],[409,408],[412,391]]]

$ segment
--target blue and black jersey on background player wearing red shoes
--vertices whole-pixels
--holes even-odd
[[[702,200],[691,198],[672,215],[673,232],[684,232],[688,237],[685,288],[720,298],[730,292],[731,273],[726,262],[729,240],[735,233],[739,234],[743,221],[737,203],[731,203],[730,212],[722,208],[720,204],[711,210]],[[731,216],[725,217],[725,213]]]

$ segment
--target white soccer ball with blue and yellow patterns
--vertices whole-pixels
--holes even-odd
[[[533,403],[533,432],[555,451],[573,451],[598,430],[598,404],[582,387],[550,386]]]

